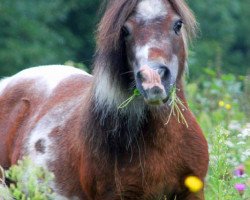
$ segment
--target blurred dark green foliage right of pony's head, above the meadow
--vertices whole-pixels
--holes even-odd
[[[250,17],[250,1],[188,2],[200,28],[194,45],[192,76],[197,77],[200,67],[205,66],[217,66],[218,71],[246,74],[250,69],[250,30],[246,20]]]

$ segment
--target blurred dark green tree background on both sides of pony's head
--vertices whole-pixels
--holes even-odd
[[[101,0],[1,0],[0,77],[68,60],[90,67]],[[250,1],[188,0],[200,31],[190,78],[203,68],[245,75],[250,70]]]

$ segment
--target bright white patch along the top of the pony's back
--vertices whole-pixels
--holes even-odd
[[[26,79],[36,80],[37,87],[44,87],[48,93],[51,93],[55,87],[64,79],[71,75],[85,75],[91,76],[87,72],[71,66],[65,65],[44,65],[25,69],[14,76],[7,78],[8,81],[3,80],[3,84],[15,84],[17,81]],[[5,84],[6,85],[6,84]],[[2,86],[3,87],[3,86]],[[1,87],[0,87],[1,92]]]

